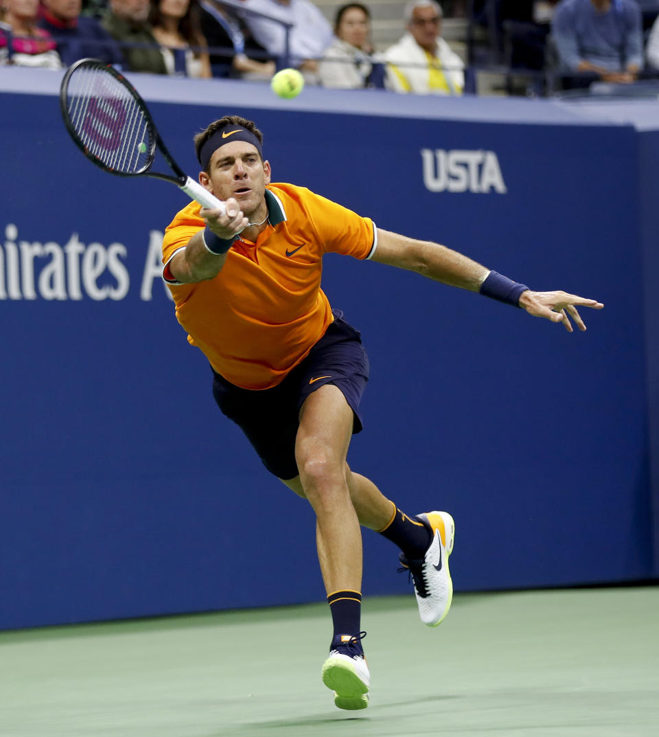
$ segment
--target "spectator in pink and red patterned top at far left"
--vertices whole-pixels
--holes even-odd
[[[37,27],[39,0],[0,0],[0,11],[0,64],[60,69],[54,40]]]

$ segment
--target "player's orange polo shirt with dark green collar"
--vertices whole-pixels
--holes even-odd
[[[267,389],[283,380],[322,338],[334,319],[320,289],[323,255],[367,259],[376,227],[309,189],[271,184],[267,228],[256,243],[236,240],[214,279],[174,282],[169,261],[205,227],[200,205],[177,213],[163,240],[163,278],[188,342],[232,384]]]

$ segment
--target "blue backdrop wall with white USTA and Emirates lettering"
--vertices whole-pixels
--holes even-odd
[[[275,181],[603,301],[568,335],[328,256],[372,363],[349,461],[406,511],[451,511],[457,590],[659,576],[659,134],[633,105],[133,80],[193,175],[194,132],[241,113]],[[161,282],[185,198],[85,161],[59,81],[0,70],[0,627],[323,599],[311,509],[216,409]],[[408,590],[390,543],[364,555],[364,593]]]

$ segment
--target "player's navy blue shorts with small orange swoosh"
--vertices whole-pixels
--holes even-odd
[[[269,472],[284,481],[298,475],[295,438],[300,408],[312,391],[325,384],[339,387],[354,414],[353,433],[362,430],[359,402],[370,372],[368,356],[359,331],[342,312],[333,312],[323,338],[278,385],[243,389],[213,372],[213,396],[222,413],[239,425]]]

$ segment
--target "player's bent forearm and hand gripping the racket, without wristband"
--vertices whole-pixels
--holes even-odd
[[[238,203],[233,198],[225,203],[226,212],[202,208],[200,216],[208,228],[222,240],[232,240],[247,227]],[[194,284],[205,279],[214,279],[225,265],[227,254],[214,254],[208,251],[204,240],[204,231],[194,234],[188,241],[185,251],[180,251],[172,259],[169,270],[178,282]]]

